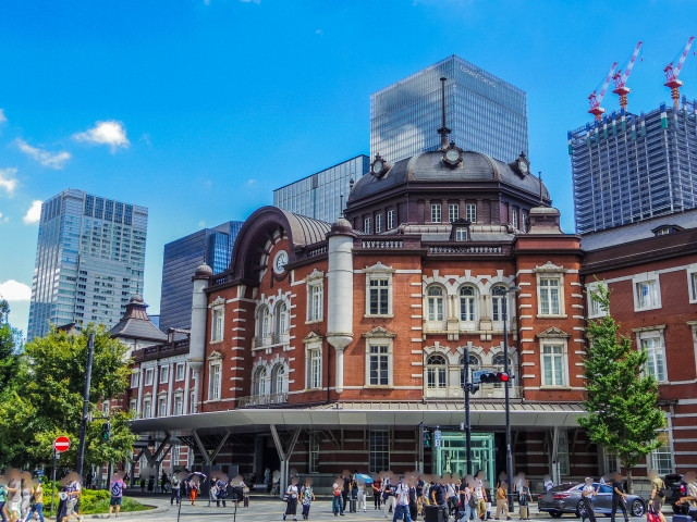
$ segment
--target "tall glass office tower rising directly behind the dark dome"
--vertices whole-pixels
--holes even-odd
[[[504,162],[528,153],[525,91],[452,55],[370,96],[370,157],[391,163],[440,147],[441,83],[450,138]]]

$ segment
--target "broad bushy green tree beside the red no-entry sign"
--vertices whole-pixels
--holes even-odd
[[[135,439],[120,410],[110,412],[111,439],[101,439],[98,409],[105,400],[119,398],[129,384],[131,369],[127,348],[112,339],[103,327],[89,324],[80,334],[52,328],[46,337],[27,343],[20,358],[15,389],[0,402],[0,440],[11,440],[5,463],[37,465],[52,459],[57,436],[70,437],[71,449],[63,463],[74,463],[77,455],[83,391],[87,365],[87,343],[95,333],[89,412],[95,417],[87,430],[85,463],[101,464],[126,459]]]

